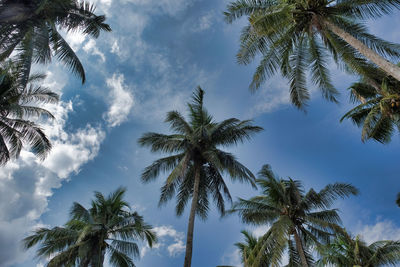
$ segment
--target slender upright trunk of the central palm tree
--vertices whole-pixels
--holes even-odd
[[[192,198],[192,207],[190,208],[189,224],[186,237],[186,254],[185,254],[185,263],[183,265],[184,267],[190,267],[192,265],[193,230],[194,230],[194,219],[196,217],[197,202],[199,199],[199,186],[200,186],[200,168],[195,167],[193,198]]]

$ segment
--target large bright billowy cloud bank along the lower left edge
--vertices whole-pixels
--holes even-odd
[[[62,79],[54,82],[53,73],[48,74],[44,84],[61,86]],[[102,129],[91,125],[72,132],[66,130],[68,114],[73,112],[71,101],[45,108],[55,116],[55,120],[41,123],[53,145],[47,159],[39,161],[33,153],[23,150],[18,160],[0,172],[0,266],[26,259],[29,254],[22,250],[20,240],[38,225],[53,189],[92,160],[105,137]]]

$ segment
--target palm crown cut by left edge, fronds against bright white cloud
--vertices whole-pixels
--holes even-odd
[[[51,149],[43,130],[27,118],[53,118],[38,104],[56,103],[58,95],[37,85],[44,75],[32,75],[27,85],[21,85],[20,75],[20,68],[9,62],[0,66],[0,165],[18,158],[25,144],[40,159]]]

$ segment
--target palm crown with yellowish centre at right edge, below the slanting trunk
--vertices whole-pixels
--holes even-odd
[[[350,87],[350,100],[358,103],[340,121],[351,119],[362,126],[361,140],[389,143],[395,129],[400,129],[400,81],[379,69]]]

